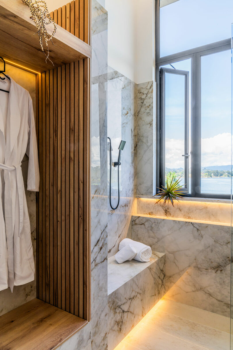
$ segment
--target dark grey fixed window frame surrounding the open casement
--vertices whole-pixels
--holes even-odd
[[[156,193],[161,188],[161,168],[165,159],[162,148],[162,116],[160,96],[160,66],[173,64],[185,59],[191,59],[191,191],[189,197],[231,199],[231,194],[201,193],[201,57],[217,52],[231,50],[231,38],[206,44],[168,56],[160,57],[160,22],[159,3],[155,0],[155,81],[156,89]],[[169,5],[167,5],[169,6]]]

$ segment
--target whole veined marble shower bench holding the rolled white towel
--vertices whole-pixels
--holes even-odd
[[[108,350],[114,349],[165,294],[165,254],[149,262],[108,259]]]

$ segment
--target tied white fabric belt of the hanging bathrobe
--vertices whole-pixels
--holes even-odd
[[[0,169],[4,171],[5,191],[4,191],[4,209],[5,209],[5,225],[6,225],[6,239],[7,239],[7,251],[8,251],[8,286],[11,291],[14,287],[14,250],[13,250],[13,236],[14,233],[19,237],[22,234],[23,229],[23,175],[21,169],[21,163],[17,165],[6,165],[0,163]],[[12,183],[10,173],[16,173],[16,184]],[[16,192],[19,195],[19,231],[15,231],[15,208],[16,205]]]

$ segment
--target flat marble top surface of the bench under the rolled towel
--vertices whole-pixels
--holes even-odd
[[[108,295],[123,286],[124,283],[131,280],[131,278],[153,264],[163,255],[165,254],[153,252],[152,257],[148,262],[131,260],[125,261],[122,264],[118,264],[114,256],[108,258]]]

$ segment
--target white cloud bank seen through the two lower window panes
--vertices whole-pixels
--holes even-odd
[[[184,167],[184,141],[166,139],[166,167]],[[202,166],[231,164],[231,134],[222,133],[202,139]]]

